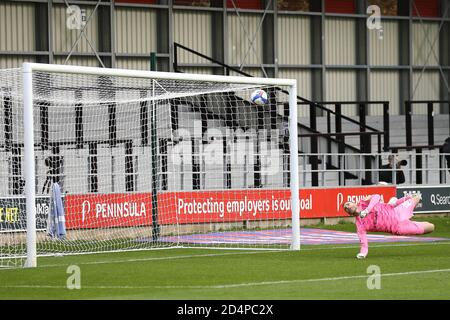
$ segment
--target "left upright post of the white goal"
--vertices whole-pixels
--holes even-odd
[[[25,63],[23,74],[24,144],[25,144],[25,197],[27,213],[27,260],[25,267],[34,268],[36,259],[36,190],[34,164],[34,124],[33,124],[33,74]]]

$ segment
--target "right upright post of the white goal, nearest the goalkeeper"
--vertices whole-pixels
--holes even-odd
[[[300,190],[298,175],[298,120],[297,120],[297,83],[289,92],[289,149],[291,167],[291,210],[292,210],[292,243],[291,250],[300,250]]]

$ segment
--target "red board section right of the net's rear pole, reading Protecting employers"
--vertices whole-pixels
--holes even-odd
[[[348,216],[342,205],[347,201],[380,194],[387,202],[396,195],[395,187],[358,187],[300,190],[300,218]],[[166,198],[167,197],[167,198]],[[164,200],[165,199],[165,200]],[[289,190],[234,190],[178,192],[159,197],[158,203],[175,201],[178,223],[232,222],[244,220],[290,219]],[[175,210],[174,207],[176,208]],[[169,212],[165,215],[170,215]]]

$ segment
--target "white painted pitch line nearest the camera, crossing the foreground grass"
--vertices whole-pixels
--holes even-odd
[[[435,270],[421,270],[421,271],[409,271],[409,272],[396,272],[380,274],[381,277],[396,277],[396,276],[410,276],[418,274],[430,274],[430,273],[444,273],[450,272],[450,269],[435,269]],[[211,285],[211,286],[81,286],[81,289],[233,289],[242,287],[256,287],[256,286],[268,286],[268,285],[281,285],[281,284],[299,284],[299,283],[311,283],[311,282],[331,282],[341,280],[353,280],[353,279],[365,279],[370,275],[354,275],[354,276],[342,276],[342,277],[329,277],[329,278],[315,278],[315,279],[297,279],[297,280],[281,280],[281,281],[262,281],[262,282],[248,282],[248,283],[235,283],[225,285]],[[5,289],[67,289],[66,286],[51,286],[51,285],[0,285],[0,288]]]

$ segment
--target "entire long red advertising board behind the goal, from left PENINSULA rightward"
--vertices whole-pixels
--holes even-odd
[[[342,205],[380,194],[384,201],[396,188],[355,187],[300,190],[300,218],[345,217]],[[142,226],[152,223],[150,193],[67,195],[68,229]],[[289,190],[167,192],[158,195],[158,223],[197,224],[291,218]]]

